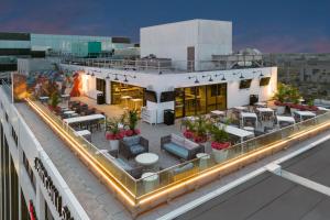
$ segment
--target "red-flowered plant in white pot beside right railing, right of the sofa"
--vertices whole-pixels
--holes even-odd
[[[229,142],[229,135],[224,131],[226,127],[217,127],[212,124],[209,129],[211,134],[211,147],[215,161],[217,163],[223,162],[228,156],[228,148],[231,143]]]

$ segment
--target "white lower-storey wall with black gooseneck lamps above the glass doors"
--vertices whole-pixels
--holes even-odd
[[[152,90],[156,91],[157,99],[161,98],[162,91],[174,90],[175,88],[183,87],[194,87],[194,86],[202,86],[202,85],[211,85],[211,84],[222,84],[227,82],[227,107],[232,108],[235,106],[244,106],[250,102],[250,95],[258,95],[260,101],[268,100],[273,97],[277,87],[277,67],[264,67],[264,68],[249,68],[249,69],[232,69],[232,70],[213,70],[213,72],[202,72],[202,73],[183,73],[183,74],[146,74],[143,72],[134,72],[134,70],[119,70],[119,69],[107,69],[107,68],[96,68],[96,67],[86,67],[86,66],[77,66],[77,65],[65,65],[62,64],[63,68],[70,70],[79,70],[84,69],[84,73],[94,72],[95,77],[87,76],[89,80],[89,88],[95,89],[96,77],[106,79],[109,74],[111,81],[114,79],[114,76],[111,74],[127,74],[131,76],[136,76],[136,78],[128,78],[129,82],[123,81],[123,77],[119,76],[119,81],[123,84],[130,84],[143,88],[152,88]],[[253,74],[253,72],[257,72]],[[237,75],[233,75],[235,73]],[[240,74],[244,76],[245,79],[253,78],[251,88],[249,89],[240,89]],[[271,77],[271,81],[268,86],[260,87],[260,74],[263,73],[264,77]],[[221,81],[221,77],[213,77],[213,81],[208,81],[209,77],[202,78],[205,75],[215,76],[216,74],[223,74],[226,79]],[[195,78],[189,79],[189,76],[197,76],[199,84],[195,84]],[[109,89],[110,90],[110,89]],[[85,91],[88,92],[88,91]],[[110,91],[107,91],[110,92]],[[157,108],[158,114],[158,123],[163,122],[163,110],[164,109],[174,109],[174,102],[166,103],[147,103],[148,107]]]

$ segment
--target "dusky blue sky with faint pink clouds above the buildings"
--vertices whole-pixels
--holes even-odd
[[[129,36],[190,19],[233,22],[233,48],[330,53],[330,0],[0,0],[0,32]]]

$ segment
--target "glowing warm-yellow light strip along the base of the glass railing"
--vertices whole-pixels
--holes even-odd
[[[62,138],[64,138],[77,151],[77,153],[79,153],[79,155],[81,155],[81,157],[84,157],[84,160],[86,160],[88,162],[88,164],[90,164],[98,172],[98,174],[101,175],[107,180],[107,183],[110,184],[110,186],[112,186],[114,188],[116,191],[118,191],[121,196],[123,196],[123,198],[129,202],[129,205],[131,207],[135,207],[135,208],[139,207],[140,205],[148,202],[153,199],[157,199],[158,197],[168,195],[178,188],[186,187],[186,185],[188,185],[188,184],[191,184],[194,182],[197,182],[201,178],[213,175],[216,173],[220,173],[221,170],[224,170],[229,167],[238,165],[244,161],[248,161],[249,158],[252,158],[252,157],[255,157],[263,153],[270,152],[280,145],[292,142],[293,140],[297,140],[301,136],[307,135],[308,133],[320,131],[330,125],[330,122],[327,122],[317,128],[312,128],[307,131],[301,131],[300,133],[296,133],[293,136],[289,136],[288,140],[283,140],[278,143],[270,144],[262,148],[255,150],[251,153],[246,153],[245,155],[242,155],[239,158],[232,158],[231,161],[226,162],[226,164],[220,164],[219,166],[210,167],[208,170],[205,170],[204,173],[199,174],[198,176],[188,177],[187,179],[184,179],[180,183],[174,183],[173,186],[160,188],[160,189],[157,189],[157,191],[151,193],[150,195],[136,197],[125,186],[123,186],[109,170],[107,170],[107,168],[103,167],[96,158],[90,156],[90,153],[87,152],[84,147],[81,147],[80,143],[78,143],[75,139],[73,139],[70,135],[68,135],[63,128],[57,125],[57,122],[55,122],[51,117],[48,117],[47,113],[45,113],[42,109],[40,109],[40,107],[37,107],[35,103],[33,103],[33,101],[31,101],[30,99],[26,99],[26,101],[48,123],[48,125],[51,125]],[[116,179],[116,180],[113,180],[113,179]],[[120,186],[118,186],[118,185],[120,185]],[[135,199],[132,199],[131,197],[133,197]]]

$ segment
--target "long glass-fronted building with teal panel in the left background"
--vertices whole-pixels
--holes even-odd
[[[0,32],[0,72],[15,70],[16,58],[73,55],[111,56],[114,51],[134,47],[129,37],[53,35]]]

